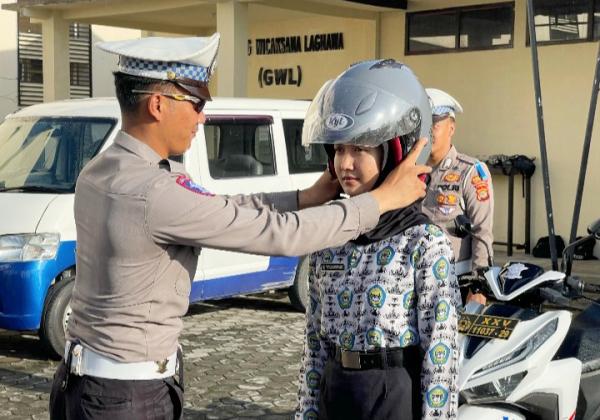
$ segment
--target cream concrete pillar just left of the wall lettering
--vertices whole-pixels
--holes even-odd
[[[217,95],[246,97],[248,74],[248,3],[217,2],[217,31],[221,45],[217,57]]]

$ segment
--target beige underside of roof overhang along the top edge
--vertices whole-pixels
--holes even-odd
[[[240,0],[253,22],[311,16],[377,19],[386,11],[406,9],[407,0]],[[6,10],[44,19],[59,13],[81,23],[120,26],[155,32],[202,35],[216,28],[218,0],[17,0]]]

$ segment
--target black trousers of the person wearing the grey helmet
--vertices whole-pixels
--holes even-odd
[[[420,420],[421,361],[404,367],[349,370],[329,359],[321,382],[319,419]]]

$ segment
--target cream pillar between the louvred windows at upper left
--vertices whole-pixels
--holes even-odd
[[[52,12],[42,22],[44,102],[70,96],[69,22]]]

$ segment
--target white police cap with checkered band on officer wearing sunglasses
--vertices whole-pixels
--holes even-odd
[[[219,39],[217,32],[210,37],[148,37],[96,45],[119,55],[121,73],[169,80],[192,95],[210,100],[208,81],[216,65]]]

